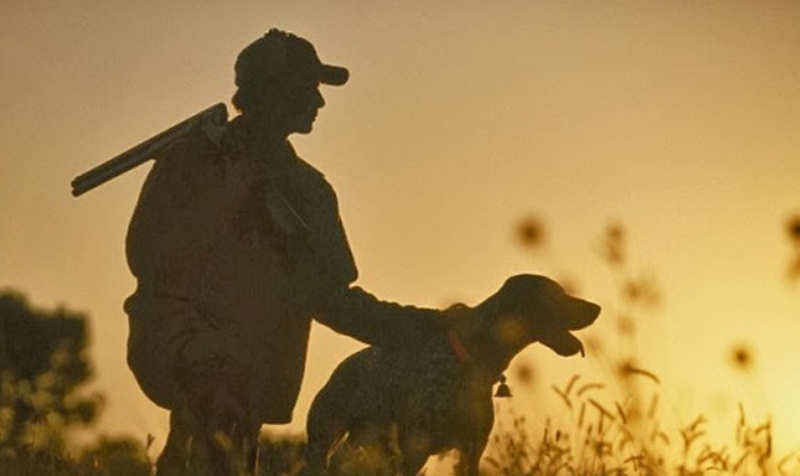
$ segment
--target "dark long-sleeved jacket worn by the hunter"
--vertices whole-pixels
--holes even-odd
[[[182,350],[210,339],[263,423],[291,420],[312,319],[371,344],[414,348],[438,311],[379,301],[358,272],[335,192],[286,142],[253,153],[237,138],[198,133],[174,143],[143,185],[126,237],[136,291],[126,300],[128,363],[156,404],[181,405]],[[231,139],[232,138],[232,139]],[[266,180],[232,179],[235,160],[264,160]],[[277,192],[298,215],[288,234],[267,205]]]

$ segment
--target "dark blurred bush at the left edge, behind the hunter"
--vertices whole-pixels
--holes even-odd
[[[0,294],[0,448],[57,450],[67,429],[95,420],[101,398],[78,392],[92,375],[87,334],[81,314]]]

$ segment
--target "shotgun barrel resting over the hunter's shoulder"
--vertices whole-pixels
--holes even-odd
[[[72,180],[72,195],[83,195],[93,188],[138,167],[148,160],[156,157],[158,153],[176,139],[190,133],[203,124],[222,126],[228,120],[228,111],[225,104],[215,104],[194,116],[175,124],[159,134],[147,139],[141,144],[121,153],[113,159],[107,160]]]

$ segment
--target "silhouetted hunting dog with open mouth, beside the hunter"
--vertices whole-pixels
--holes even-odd
[[[451,308],[447,331],[422,351],[368,347],[349,356],[309,410],[303,474],[346,472],[346,459],[337,458],[346,442],[378,455],[384,466],[394,460],[409,476],[431,455],[457,449],[459,474],[477,476],[494,424],[492,387],[511,359],[534,342],[562,356],[583,355],[570,331],[599,314],[600,306],[568,295],[549,278],[518,275],[474,309]],[[366,471],[378,474],[359,474]]]

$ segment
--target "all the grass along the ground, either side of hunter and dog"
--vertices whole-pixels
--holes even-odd
[[[649,372],[635,378],[657,378]],[[498,426],[483,459],[487,475],[792,475],[800,473],[800,453],[777,455],[770,420],[749,421],[739,407],[735,435],[727,445],[714,445],[698,415],[677,428],[665,428],[659,416],[659,394],[646,400],[612,402],[606,385],[573,376],[554,386],[562,408],[546,418],[538,432],[527,415],[513,410],[498,415]],[[644,405],[643,403],[646,403]],[[559,424],[554,424],[559,421]],[[148,438],[149,442],[152,442]],[[260,476],[290,476],[303,466],[302,437],[262,439]],[[356,453],[357,454],[357,453]],[[353,461],[350,474],[377,474],[369,461]],[[0,449],[4,476],[147,476],[153,470],[147,442],[100,438],[92,447],[67,452],[5,447]],[[431,473],[432,474],[432,473]]]

